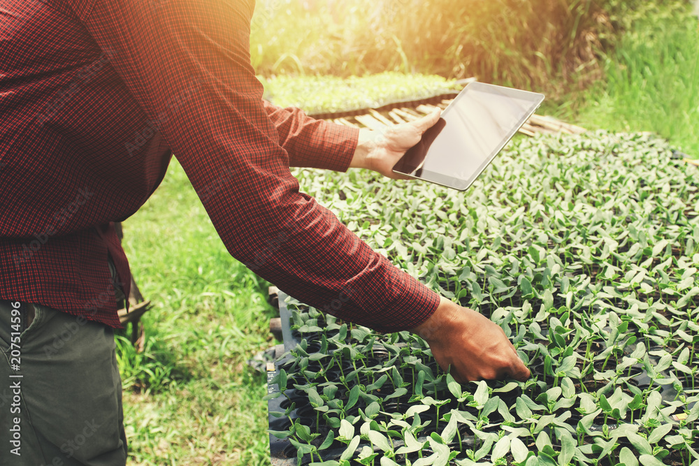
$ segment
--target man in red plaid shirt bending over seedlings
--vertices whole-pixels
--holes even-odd
[[[415,331],[460,381],[528,377],[498,326],[398,271],[289,173],[392,176],[438,112],[380,135],[264,103],[253,10],[0,0],[0,464],[126,462],[111,328],[129,267],[113,222],[145,203],[173,152],[226,248],[261,277],[319,308],[342,296],[343,319]]]

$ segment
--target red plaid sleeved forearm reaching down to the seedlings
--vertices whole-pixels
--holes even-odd
[[[311,215],[310,224],[300,220]],[[389,332],[418,326],[440,302],[437,293],[373,252],[312,198],[303,213],[284,222],[277,238],[253,251],[246,265],[324,312]]]

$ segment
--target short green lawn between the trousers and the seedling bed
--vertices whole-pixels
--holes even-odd
[[[246,361],[274,344],[266,283],[231,258],[180,165],[124,223],[146,345],[119,342],[132,465],[268,464],[266,377]]]

